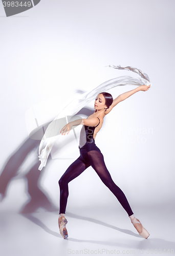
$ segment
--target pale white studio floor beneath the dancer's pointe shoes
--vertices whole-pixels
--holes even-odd
[[[120,207],[108,214],[104,208],[73,210],[66,214],[69,237],[63,239],[57,225],[58,212],[39,208],[33,214],[20,215],[3,209],[1,255],[172,255],[175,250],[174,210],[169,204],[144,205],[137,210],[136,217],[150,233],[148,239],[139,236]]]

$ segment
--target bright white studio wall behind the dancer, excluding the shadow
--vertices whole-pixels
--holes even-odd
[[[47,102],[37,118],[46,114],[52,120],[76,90],[89,91],[117,76],[136,77],[105,66],[131,66],[147,73],[152,87],[106,116],[96,144],[133,207],[174,203],[174,8],[172,0],[41,0],[7,18],[0,5],[1,167],[28,138],[25,113],[31,107]],[[134,88],[108,92],[116,98]],[[75,146],[73,159],[51,160],[42,169],[39,184],[57,207],[57,181],[79,156]],[[26,169],[10,182],[2,209],[18,211],[29,198]],[[71,212],[121,207],[91,167],[70,183],[68,200]]]

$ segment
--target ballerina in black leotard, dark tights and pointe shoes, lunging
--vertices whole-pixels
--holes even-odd
[[[148,91],[149,86],[142,85],[137,87],[132,91],[125,92],[119,95],[113,100],[110,93],[101,92],[97,95],[95,99],[94,109],[95,112],[86,119],[78,119],[71,121],[62,127],[60,133],[61,135],[69,134],[72,127],[82,124],[79,140],[79,151],[80,156],[68,167],[65,173],[61,176],[59,180],[60,187],[60,210],[58,217],[58,226],[60,234],[62,237],[68,238],[68,231],[66,224],[68,223],[65,218],[65,209],[67,206],[67,200],[69,195],[68,183],[78,177],[86,168],[92,166],[95,172],[100,177],[101,181],[112,191],[116,196],[122,207],[126,210],[131,222],[137,229],[139,234],[143,238],[148,238],[148,231],[142,226],[141,222],[136,219],[134,213],[123,193],[123,191],[115,184],[110,173],[108,172],[106,165],[104,163],[103,155],[100,149],[95,144],[95,137],[100,131],[103,118],[112,111],[114,106],[119,102],[125,100],[129,96],[133,95],[138,91]]]

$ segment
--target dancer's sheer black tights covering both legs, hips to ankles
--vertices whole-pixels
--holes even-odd
[[[123,193],[123,191],[114,183],[110,173],[108,172],[104,163],[104,158],[99,148],[92,143],[85,144],[80,148],[80,156],[75,160],[65,171],[59,180],[60,187],[60,214],[65,214],[65,208],[67,206],[69,189],[68,183],[78,177],[86,168],[92,166],[102,182],[112,191],[116,196],[120,204],[126,210],[128,216],[133,215],[133,211]]]

